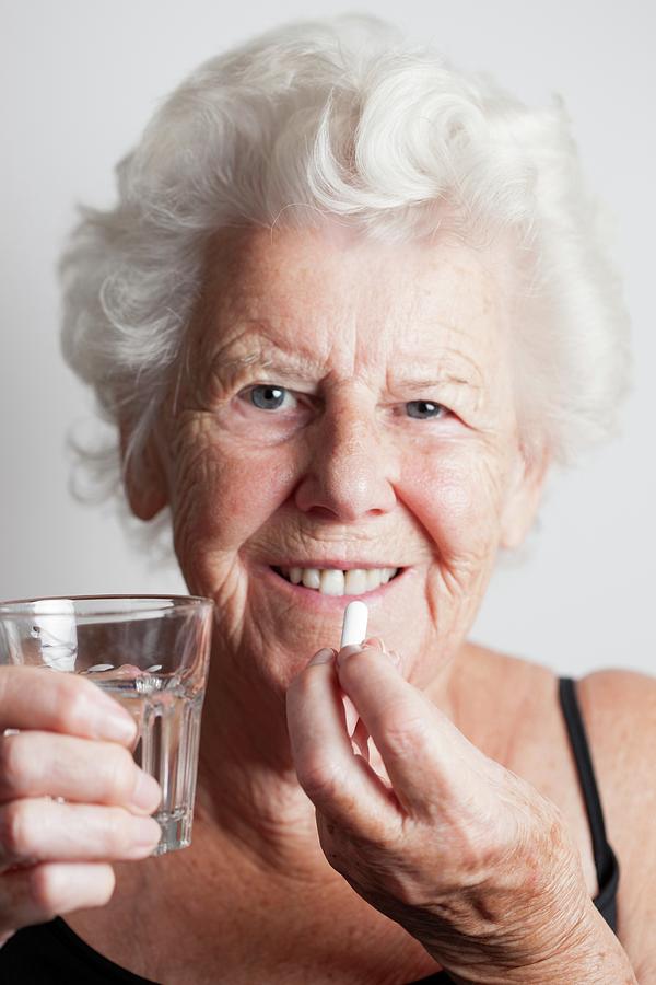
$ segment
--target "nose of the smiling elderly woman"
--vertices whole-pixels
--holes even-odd
[[[387,513],[396,505],[396,455],[371,415],[355,409],[326,415],[295,494],[305,513],[353,521]]]

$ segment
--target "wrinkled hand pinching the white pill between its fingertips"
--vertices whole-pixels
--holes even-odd
[[[499,981],[566,950],[590,901],[559,808],[469,742],[379,641],[317,656],[290,685],[288,723],[332,868],[456,975]]]

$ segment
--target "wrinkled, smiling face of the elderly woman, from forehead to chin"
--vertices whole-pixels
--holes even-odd
[[[418,684],[464,640],[532,510],[504,269],[336,229],[216,242],[159,455],[189,589],[250,677],[282,692],[354,595]]]

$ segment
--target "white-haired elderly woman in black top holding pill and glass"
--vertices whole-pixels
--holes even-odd
[[[655,983],[656,684],[467,641],[624,389],[562,107],[300,23],[201,66],[118,177],[65,350],[216,605],[194,845],[145,858],[118,706],[4,669],[2,982]]]

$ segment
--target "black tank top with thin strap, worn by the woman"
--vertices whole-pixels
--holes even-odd
[[[595,772],[576,700],[574,681],[561,677],[559,696],[589,820],[599,892],[597,909],[617,934],[617,892],[620,870],[606,839]],[[442,971],[411,985],[446,985],[453,980]],[[25,927],[0,949],[2,985],[155,985],[126,971],[94,951],[59,917],[48,924]]]

